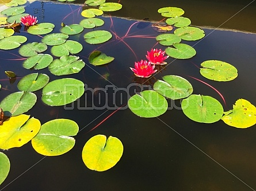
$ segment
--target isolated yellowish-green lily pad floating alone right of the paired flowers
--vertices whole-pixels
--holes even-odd
[[[231,81],[238,76],[238,70],[231,64],[219,60],[207,60],[201,63],[202,76],[215,81]]]

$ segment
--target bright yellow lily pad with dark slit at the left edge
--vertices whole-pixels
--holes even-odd
[[[41,123],[30,115],[12,116],[0,128],[0,148],[11,149],[28,143],[39,132]]]

